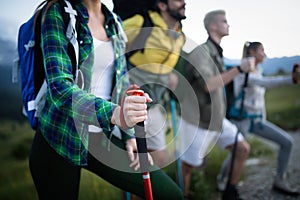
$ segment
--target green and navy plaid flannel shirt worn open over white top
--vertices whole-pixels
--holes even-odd
[[[105,29],[111,39],[115,53],[115,96],[114,102],[97,98],[90,92],[93,66],[93,40],[88,28],[88,13],[82,3],[75,5],[80,22],[79,65],[84,75],[84,88],[80,89],[73,80],[73,68],[67,53],[63,22],[59,3],[51,6],[43,17],[41,47],[44,55],[46,80],[48,83],[45,105],[39,117],[39,130],[51,147],[75,165],[86,165],[88,155],[89,124],[100,125],[110,137],[113,125],[110,120],[119,98],[129,86],[126,75],[125,41],[115,17],[102,4]],[[133,137],[133,130],[123,133],[126,139]]]

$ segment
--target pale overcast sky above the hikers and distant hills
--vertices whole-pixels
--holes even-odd
[[[7,38],[16,39],[18,26],[26,21],[41,0],[2,0],[0,30]],[[102,0],[112,8],[112,0]],[[222,40],[224,55],[240,58],[245,41],[260,41],[267,56],[300,55],[299,0],[186,0],[183,30],[197,44],[207,39],[203,27],[205,13],[224,9],[230,25],[230,35]]]

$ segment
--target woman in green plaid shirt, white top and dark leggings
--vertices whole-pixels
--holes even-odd
[[[117,99],[129,86],[120,21],[101,0],[71,2],[80,23],[79,65],[84,79],[79,82],[84,86],[73,78],[63,8],[49,0],[42,16],[41,47],[48,88],[29,159],[39,199],[78,199],[81,169],[144,197],[132,127],[147,119],[146,102],[151,99],[147,94],[126,96],[122,107],[118,105]],[[101,60],[104,54],[107,57]],[[101,66],[101,62],[108,65]],[[103,70],[101,77],[106,78],[100,97],[90,93],[91,72],[98,67],[105,68],[97,70]],[[103,140],[92,141],[88,125],[101,128],[97,134]],[[122,140],[112,135],[115,126],[124,129]],[[151,170],[154,199],[182,199],[173,180],[155,166]]]

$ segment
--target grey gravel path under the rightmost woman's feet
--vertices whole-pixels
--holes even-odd
[[[294,138],[294,146],[288,167],[288,180],[300,191],[300,130],[290,132],[290,135]],[[300,195],[285,195],[272,189],[275,167],[276,160],[247,166],[246,180],[239,188],[241,197],[245,200],[300,200]]]

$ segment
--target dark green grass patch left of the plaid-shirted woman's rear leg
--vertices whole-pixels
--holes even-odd
[[[0,199],[37,199],[27,159],[33,131],[27,124],[0,126]]]

